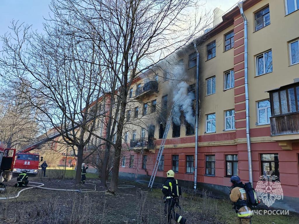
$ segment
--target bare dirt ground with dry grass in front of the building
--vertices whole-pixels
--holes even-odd
[[[161,189],[150,192],[146,184],[120,183],[115,196],[105,195],[97,179],[87,179],[85,185],[74,187],[73,179],[30,177],[30,181],[42,182],[47,188],[59,188],[89,192],[51,191],[33,188],[23,191],[17,199],[0,200],[0,223],[40,224],[160,224],[164,223],[164,203]],[[15,180],[9,182],[13,185]],[[120,180],[120,182],[123,182]],[[132,185],[132,186],[131,186]],[[21,188],[9,186],[0,197],[15,195]],[[208,193],[195,194],[184,191],[178,213],[189,223],[232,224],[235,213],[227,199],[215,199]],[[260,215],[252,223],[299,223],[298,214],[289,216]]]

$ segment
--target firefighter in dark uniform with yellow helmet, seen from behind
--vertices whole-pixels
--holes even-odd
[[[177,185],[177,180],[174,179],[173,170],[167,171],[166,174],[167,179],[165,180],[161,189],[165,200],[164,213],[166,216],[166,223],[169,224],[171,220],[174,219],[177,223],[184,224],[187,220],[174,211],[174,206],[178,205],[179,203],[179,187]]]

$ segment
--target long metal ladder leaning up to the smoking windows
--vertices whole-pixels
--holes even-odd
[[[152,185],[154,183],[154,180],[155,180],[158,168],[159,168],[159,163],[160,163],[160,160],[162,158],[165,141],[166,141],[167,134],[168,134],[168,131],[169,131],[169,128],[170,128],[170,125],[171,125],[171,121],[172,121],[173,110],[174,110],[174,105],[172,106],[169,117],[167,119],[167,123],[166,123],[166,126],[165,126],[165,131],[164,131],[164,134],[163,134],[163,139],[161,141],[161,145],[160,145],[160,148],[159,148],[159,151],[158,151],[158,155],[157,155],[157,159],[156,159],[156,162],[155,162],[155,165],[154,165],[154,169],[152,170],[152,176],[150,177],[150,180],[149,180],[149,185],[148,185],[149,188],[152,188]]]

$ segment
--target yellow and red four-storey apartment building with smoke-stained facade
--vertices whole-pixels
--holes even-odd
[[[299,4],[247,0],[243,9],[248,20],[248,124],[245,30],[239,7],[196,40],[200,54],[197,187],[228,195],[225,186],[231,185],[232,175],[249,180],[249,125],[254,186],[261,175],[272,171],[283,190],[283,200],[273,206],[298,210]],[[181,49],[172,60],[176,66],[149,70],[129,92],[127,117],[139,121],[126,125],[122,176],[134,177],[138,171],[138,178],[149,179],[167,120],[163,111],[169,112],[173,105],[178,80],[186,82],[189,92],[195,91],[195,49]],[[156,182],[173,169],[177,179],[193,186],[194,125],[183,117],[181,125],[170,127]]]

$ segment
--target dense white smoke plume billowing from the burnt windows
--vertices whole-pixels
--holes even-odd
[[[181,125],[181,110],[184,112],[184,116],[186,121],[194,127],[195,125],[195,116],[193,113],[193,102],[192,100],[195,98],[192,92],[188,91],[188,84],[186,82],[180,82],[174,93],[173,93],[173,122],[176,125]]]

